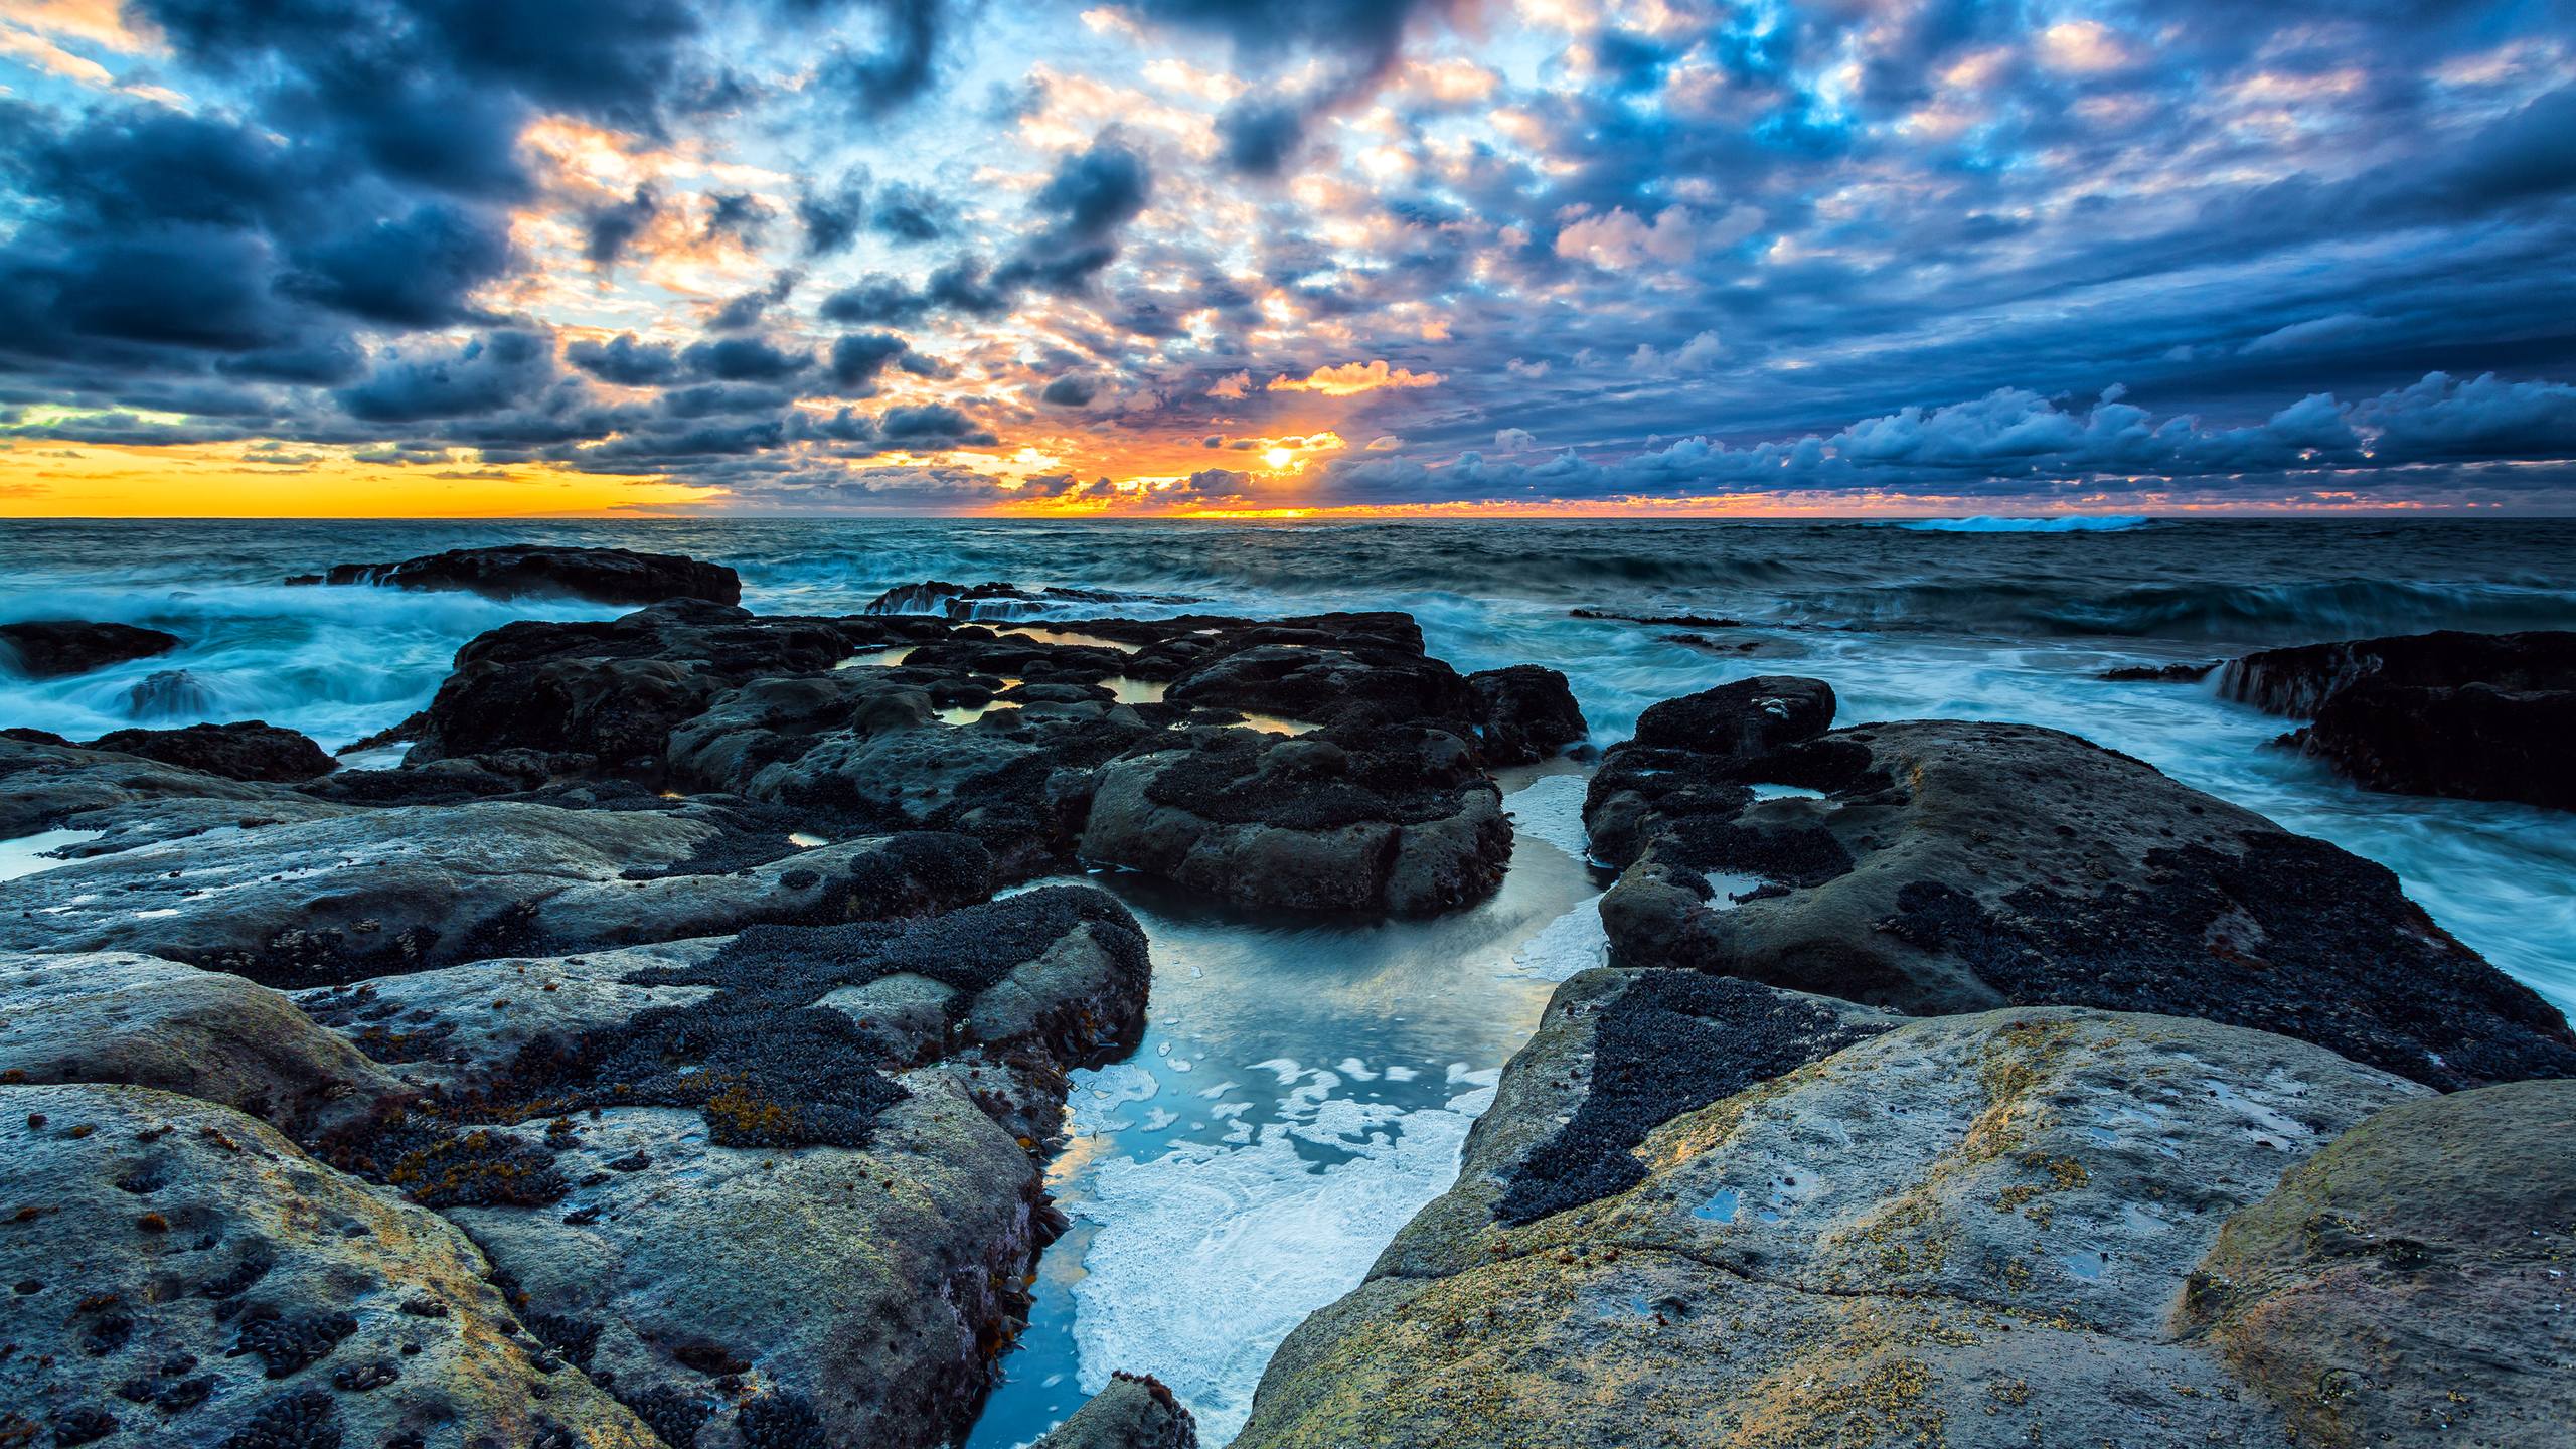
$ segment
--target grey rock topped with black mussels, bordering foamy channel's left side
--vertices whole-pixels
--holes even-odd
[[[1061,1225],[1064,1073],[1144,1031],[1133,918],[1048,887],[659,954],[309,993],[361,1047],[399,1026],[443,1060],[428,1109],[335,1160],[446,1209],[538,1338],[657,1423],[714,1403],[755,1444],[948,1444]]]

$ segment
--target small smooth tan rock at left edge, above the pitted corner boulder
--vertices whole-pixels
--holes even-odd
[[[291,1134],[407,1091],[263,985],[121,951],[0,954],[0,1075],[175,1091]]]

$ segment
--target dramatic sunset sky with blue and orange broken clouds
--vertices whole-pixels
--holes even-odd
[[[2576,0],[0,0],[0,513],[2576,511]]]

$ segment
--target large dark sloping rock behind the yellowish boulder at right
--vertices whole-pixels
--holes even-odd
[[[1613,964],[1917,1016],[2202,1016],[2445,1091],[2576,1073],[2566,1021],[2391,871],[2074,735],[1904,722],[1747,753],[1718,717],[1656,737],[1721,748],[1641,724],[1592,779],[1592,848],[1628,866],[1602,897]]]

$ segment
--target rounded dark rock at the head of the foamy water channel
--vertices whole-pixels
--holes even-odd
[[[1502,884],[1512,825],[1443,730],[1190,730],[1100,768],[1082,856],[1236,905],[1425,915]]]

